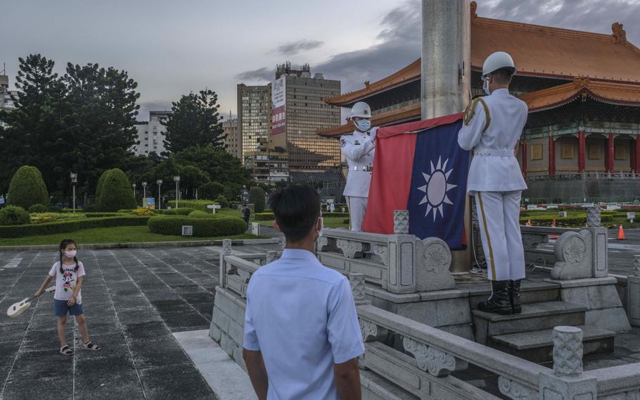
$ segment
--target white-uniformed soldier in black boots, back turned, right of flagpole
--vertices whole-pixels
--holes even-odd
[[[482,311],[520,313],[520,281],[525,256],[520,236],[520,196],[527,189],[516,159],[518,139],[527,123],[527,104],[508,92],[516,65],[498,51],[482,67],[487,96],[467,106],[458,135],[463,149],[473,149],[467,188],[475,196],[482,249],[492,294]]]

